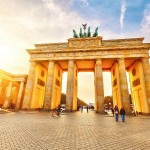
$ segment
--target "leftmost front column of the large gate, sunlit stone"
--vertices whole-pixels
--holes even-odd
[[[23,100],[23,106],[22,106],[23,109],[30,109],[32,92],[33,92],[34,82],[35,82],[35,67],[36,67],[36,62],[31,62],[27,84],[26,84],[25,96]]]

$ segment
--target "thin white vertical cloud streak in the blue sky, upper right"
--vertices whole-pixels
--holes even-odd
[[[120,26],[121,26],[121,29],[123,29],[123,26],[124,26],[125,12],[126,12],[126,1],[123,0],[122,1],[122,5],[121,5],[121,14],[120,14]]]

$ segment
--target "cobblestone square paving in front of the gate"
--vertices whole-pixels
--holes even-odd
[[[150,116],[119,119],[86,111],[0,113],[0,150],[150,150]]]

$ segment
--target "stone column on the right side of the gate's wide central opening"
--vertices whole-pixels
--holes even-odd
[[[104,112],[104,89],[102,60],[97,60],[95,64],[95,109],[97,112]]]

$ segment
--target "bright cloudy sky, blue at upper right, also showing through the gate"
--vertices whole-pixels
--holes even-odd
[[[39,43],[67,42],[73,37],[72,30],[79,32],[84,23],[91,31],[98,27],[104,40],[144,37],[144,42],[150,43],[150,1],[0,0],[0,69],[28,74],[26,49]],[[110,80],[108,74],[105,76]],[[82,92],[86,83],[83,79],[91,79],[94,87],[92,73],[81,73],[79,78]],[[108,89],[110,84],[105,86]],[[105,90],[105,95],[111,95],[111,89]]]

